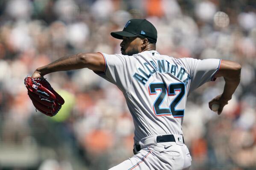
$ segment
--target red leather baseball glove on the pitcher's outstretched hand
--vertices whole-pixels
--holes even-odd
[[[65,101],[45,78],[26,77],[24,84],[36,110],[51,117],[59,112]]]

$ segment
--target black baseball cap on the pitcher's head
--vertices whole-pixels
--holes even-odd
[[[156,42],[155,26],[146,19],[131,19],[127,21],[123,31],[111,32],[112,37],[123,40],[124,37],[145,37]]]

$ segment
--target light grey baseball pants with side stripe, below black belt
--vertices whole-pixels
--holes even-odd
[[[156,135],[144,138],[136,155],[109,170],[188,170],[192,160],[188,148],[182,140],[177,141],[156,143]]]

